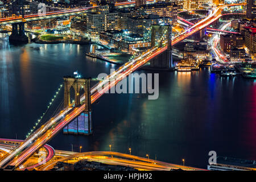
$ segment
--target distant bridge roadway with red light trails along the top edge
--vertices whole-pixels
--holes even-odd
[[[154,0],[147,0],[147,2],[154,2]],[[119,3],[115,3],[115,6],[118,7],[118,6],[125,6],[125,5],[134,5],[134,4],[135,4],[135,1],[119,2]],[[83,13],[86,10],[90,10],[95,7],[98,7],[98,6],[82,7],[80,9],[72,9],[72,10],[54,11],[54,12],[48,12],[45,14],[25,15],[24,19],[22,18],[22,16],[0,18],[0,25],[21,23],[21,22],[31,22],[31,21],[35,21],[35,20],[58,18],[61,16],[78,15],[80,13]]]

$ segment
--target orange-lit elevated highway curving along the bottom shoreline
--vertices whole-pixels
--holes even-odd
[[[0,138],[0,150],[9,152],[12,150],[12,148],[15,147],[15,145],[23,142],[23,140],[16,140],[16,139],[3,139]],[[47,156],[42,162],[39,162],[37,164],[34,164],[32,166],[24,167],[23,165],[20,165],[18,170],[24,171],[25,169],[40,169],[40,170],[48,170],[55,166],[57,162],[65,162],[67,160],[72,159],[72,163],[77,162],[76,159],[86,159],[89,161],[95,161],[95,162],[101,162],[105,164],[111,164],[111,165],[121,165],[121,166],[129,166],[134,167],[141,170],[170,170],[170,169],[183,169],[183,170],[204,170],[199,169],[195,167],[187,167],[187,166],[181,166],[171,163],[165,163],[160,162],[158,160],[152,160],[152,159],[146,159],[141,158],[134,155],[128,155],[128,154],[122,154],[119,152],[108,152],[108,151],[94,151],[94,152],[71,152],[71,151],[60,151],[60,150],[54,150],[51,146],[48,146],[48,144],[45,144],[43,146],[47,150]],[[108,155],[111,155],[112,157],[109,157]],[[56,156],[57,158],[60,158],[58,160],[50,161],[53,156]],[[116,157],[113,157],[116,156]]]

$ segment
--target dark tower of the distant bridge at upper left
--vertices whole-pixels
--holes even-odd
[[[22,15],[22,20],[24,20],[24,6],[23,6],[23,0],[16,0],[13,2],[13,13],[15,15]],[[25,35],[25,22],[20,23],[13,23],[12,24],[13,30],[11,32],[11,35],[9,37],[10,42],[18,43],[28,42],[28,37]]]

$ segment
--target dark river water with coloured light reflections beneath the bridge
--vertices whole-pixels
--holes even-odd
[[[110,73],[118,65],[85,56],[97,46],[10,46],[0,34],[0,138],[24,139],[47,109],[63,76]],[[138,73],[148,71],[137,71]],[[208,152],[256,159],[256,80],[221,78],[208,68],[159,72],[159,98],[105,94],[92,105],[93,135],[59,133],[58,150],[112,151],[207,168]],[[63,90],[62,90],[63,91]],[[57,102],[57,101],[56,101]]]

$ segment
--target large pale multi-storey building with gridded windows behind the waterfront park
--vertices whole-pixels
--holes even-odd
[[[100,32],[117,28],[118,12],[110,11],[109,5],[100,5],[96,10],[86,13],[86,32],[93,41],[100,39]]]

